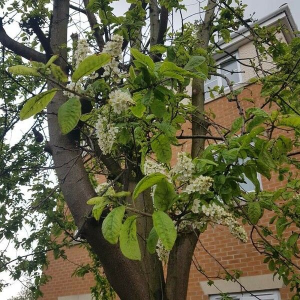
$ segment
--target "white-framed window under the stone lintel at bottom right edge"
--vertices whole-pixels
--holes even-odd
[[[248,292],[242,293],[228,293],[233,300],[280,300],[280,293],[278,290],[265,290],[265,291],[254,291],[251,294]],[[221,300],[220,295],[211,295],[209,300]]]

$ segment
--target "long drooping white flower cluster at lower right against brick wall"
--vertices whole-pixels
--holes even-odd
[[[227,226],[229,232],[241,241],[246,242],[248,240],[245,229],[239,225],[235,217],[223,207],[212,203],[208,206],[202,205],[202,211],[211,221]]]

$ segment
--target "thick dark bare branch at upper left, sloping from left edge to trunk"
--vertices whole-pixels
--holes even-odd
[[[31,49],[9,37],[4,28],[2,23],[2,17],[0,17],[0,43],[14,52],[17,55],[20,55],[28,60],[35,60],[39,62],[46,62],[46,55],[40,53],[34,49]]]

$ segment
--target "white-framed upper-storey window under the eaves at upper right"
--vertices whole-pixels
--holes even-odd
[[[233,56],[237,58],[237,53],[233,54]],[[230,81],[234,82],[235,84],[242,81],[241,75],[239,73],[239,63],[233,57],[226,57],[219,62],[217,61],[216,66],[218,67],[216,69],[217,73],[225,75]],[[209,88],[213,88],[215,85],[223,85],[225,90],[226,88],[228,89],[228,84],[224,78],[211,75],[210,79],[207,79],[204,83],[205,99],[210,97]],[[217,92],[213,92],[213,94],[216,95]]]

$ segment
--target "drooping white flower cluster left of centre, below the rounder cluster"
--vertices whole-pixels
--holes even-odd
[[[96,129],[100,149],[103,154],[110,153],[118,128],[114,127],[113,123],[109,123],[107,118],[100,114]]]

